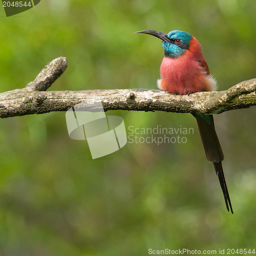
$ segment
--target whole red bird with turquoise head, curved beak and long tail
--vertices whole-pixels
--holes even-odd
[[[191,34],[172,30],[168,34],[156,30],[135,33],[153,35],[162,40],[164,58],[160,66],[159,89],[172,94],[189,95],[196,92],[215,91],[217,81],[210,75],[199,41]],[[233,209],[224,177],[224,155],[215,131],[212,115],[192,113],[196,118],[206,158],[212,162],[219,178],[227,210]]]

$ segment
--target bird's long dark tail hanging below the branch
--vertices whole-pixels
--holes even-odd
[[[227,210],[229,211],[230,207],[230,210],[233,214],[233,209],[229,198],[227,184],[225,181],[222,168],[222,161],[224,159],[224,155],[222,152],[221,144],[215,131],[214,117],[212,115],[203,114],[193,114],[193,116],[197,119],[198,128],[203,142],[206,158],[208,159],[209,162],[214,163],[215,171],[220,181]]]

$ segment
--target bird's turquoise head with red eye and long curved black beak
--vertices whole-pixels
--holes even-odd
[[[180,30],[170,31],[168,34],[155,30],[142,30],[136,33],[144,33],[154,35],[161,40],[164,55],[170,58],[178,58],[189,49],[189,44],[192,39],[192,35]]]

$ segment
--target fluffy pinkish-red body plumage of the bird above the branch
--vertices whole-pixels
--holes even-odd
[[[198,40],[193,36],[189,49],[178,58],[165,56],[158,87],[173,94],[214,91],[216,81],[209,75]]]

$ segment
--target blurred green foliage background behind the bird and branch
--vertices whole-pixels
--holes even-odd
[[[52,59],[68,68],[49,90],[156,89],[161,41],[178,29],[201,43],[226,90],[256,77],[254,0],[41,0],[0,8],[1,91],[23,88]],[[255,248],[256,109],[215,117],[234,215],[227,212],[189,114],[116,111],[126,128],[193,127],[187,143],[127,143],[92,160],[65,112],[0,120],[0,255],[147,255],[148,249]]]

